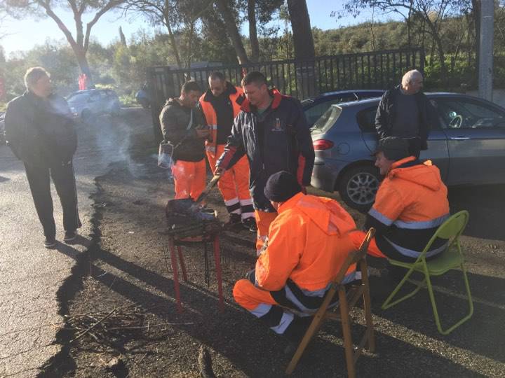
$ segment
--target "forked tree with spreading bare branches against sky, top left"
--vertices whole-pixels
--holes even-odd
[[[93,76],[88,64],[86,54],[90,43],[91,29],[98,20],[109,10],[116,8],[123,0],[0,0],[0,10],[4,10],[13,18],[21,19],[28,16],[51,18],[58,28],[65,34],[65,38],[74,51],[81,72],[86,74],[93,84]],[[74,15],[75,37],[62,19],[55,13],[57,8],[69,10]],[[83,15],[93,13],[93,18],[83,24]],[[45,15],[44,15],[45,14]]]

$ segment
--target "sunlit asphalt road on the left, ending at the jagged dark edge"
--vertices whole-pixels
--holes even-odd
[[[35,377],[60,351],[55,343],[62,326],[60,303],[76,256],[90,244],[95,177],[105,174],[111,162],[128,159],[132,129],[123,119],[137,111],[123,109],[121,118],[102,116],[78,125],[74,167],[83,227],[72,246],[62,242],[62,211],[53,187],[58,246],[43,247],[24,167],[8,146],[0,146],[0,377]]]

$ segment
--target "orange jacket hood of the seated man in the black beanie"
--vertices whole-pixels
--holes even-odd
[[[356,230],[354,219],[335,200],[298,193],[281,205],[279,213],[296,207],[326,235],[344,235]]]

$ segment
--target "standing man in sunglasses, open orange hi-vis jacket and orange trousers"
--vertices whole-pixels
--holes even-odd
[[[215,167],[231,134],[234,118],[241,111],[243,90],[229,83],[221,72],[213,72],[208,78],[209,89],[200,97],[200,106],[210,129],[206,141],[206,154],[210,167]],[[217,183],[224,204],[229,212],[228,225],[242,223],[256,232],[253,200],[249,193],[249,163],[243,156],[221,175]]]

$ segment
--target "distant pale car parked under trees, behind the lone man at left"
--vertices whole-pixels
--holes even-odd
[[[116,115],[121,110],[121,103],[114,90],[79,90],[69,94],[67,102],[74,118],[87,120],[99,114]]]

